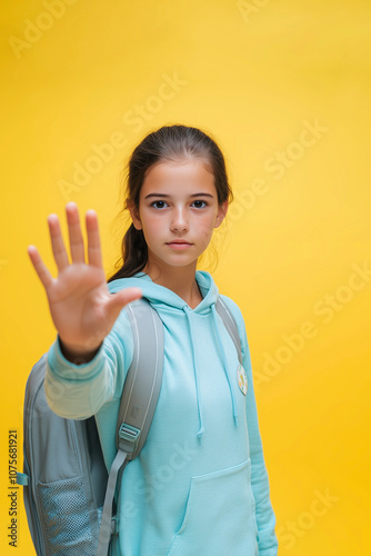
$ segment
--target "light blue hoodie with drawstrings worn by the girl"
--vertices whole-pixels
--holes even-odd
[[[144,272],[108,284],[111,292],[141,288],[164,326],[159,403],[141,454],[122,475],[120,533],[112,554],[277,556],[243,318],[238,306],[221,296],[238,324],[247,385],[215,310],[218,288],[209,272],[197,271],[195,279],[203,299],[194,309]],[[108,468],[116,455],[116,424],[132,354],[124,310],[88,364],[68,361],[58,337],[48,353],[49,405],[67,418],[97,414]],[[52,393],[59,385],[66,395],[56,399]]]

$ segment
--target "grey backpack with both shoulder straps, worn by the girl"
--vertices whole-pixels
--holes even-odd
[[[217,310],[241,360],[235,321],[219,298]],[[107,556],[117,534],[114,494],[118,476],[140,453],[156,410],[163,369],[163,325],[144,299],[127,310],[133,334],[117,423],[117,456],[108,474],[94,417],[63,419],[46,399],[47,354],[32,367],[23,415],[23,499],[38,556]],[[113,514],[113,515],[112,515]]]

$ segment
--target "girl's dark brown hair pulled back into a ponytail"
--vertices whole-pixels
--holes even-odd
[[[232,201],[233,195],[228,181],[224,157],[215,141],[198,128],[188,126],[163,126],[149,133],[133,150],[126,172],[127,198],[123,210],[134,207],[139,211],[139,195],[146,172],[156,163],[197,159],[204,162],[212,172],[218,193],[218,203]],[[140,272],[148,259],[148,249],[142,230],[131,224],[121,244],[121,258],[114,268],[120,267],[108,281],[129,278]]]

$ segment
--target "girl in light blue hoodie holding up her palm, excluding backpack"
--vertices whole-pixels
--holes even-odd
[[[33,246],[28,252],[46,288],[58,330],[48,353],[46,394],[58,415],[96,415],[108,469],[116,455],[120,397],[133,355],[122,308],[143,296],[164,327],[164,367],[147,443],[130,461],[118,497],[121,556],[275,556],[270,502],[243,318],[243,368],[218,312],[218,288],[197,269],[231,190],[223,156],[197,128],[168,126],[134,149],[128,169],[132,224],[123,266],[104,276],[98,219],[86,214],[88,264],[77,206],[66,206],[69,262],[56,215],[48,218],[58,266],[53,279]],[[110,294],[113,286],[120,291]],[[68,386],[54,399],[56,386]]]

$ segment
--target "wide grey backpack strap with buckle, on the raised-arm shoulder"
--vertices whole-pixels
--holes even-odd
[[[111,536],[112,503],[118,474],[140,453],[158,403],[163,371],[163,325],[144,298],[126,307],[134,342],[117,424],[118,453],[112,463],[99,533],[97,556],[107,556]]]

